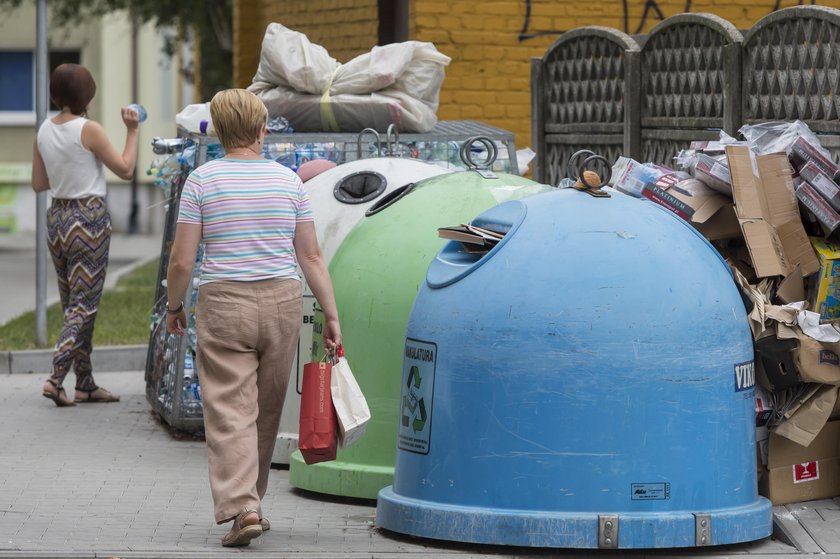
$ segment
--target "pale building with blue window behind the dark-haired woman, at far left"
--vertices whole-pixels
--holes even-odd
[[[0,235],[35,231],[35,194],[30,187],[32,142],[35,137],[36,8],[25,2],[0,14]],[[136,75],[137,102],[149,116],[140,124],[137,183],[108,171],[108,206],[115,232],[127,232],[136,190],[138,233],[163,229],[164,191],[147,170],[157,157],[155,136],[176,135],[175,115],[192,103],[192,88],[178,73],[180,62],[163,52],[163,36],[153,25],[141,26],[133,50],[132,26],[123,15],[111,15],[75,28],[56,28],[48,20],[50,67],[75,62],[96,80],[90,118],[99,121],[122,151],[125,126],[120,107],[132,102]],[[136,71],[133,65],[136,64]]]

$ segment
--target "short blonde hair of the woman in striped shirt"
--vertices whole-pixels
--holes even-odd
[[[226,150],[250,146],[268,122],[260,98],[245,89],[224,89],[210,101],[213,129]]]

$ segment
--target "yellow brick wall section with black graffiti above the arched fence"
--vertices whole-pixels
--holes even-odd
[[[517,148],[531,145],[531,58],[542,56],[563,31],[602,25],[631,35],[664,17],[714,13],[740,29],[800,0],[412,0],[412,38],[430,41],[452,58],[440,96],[441,120],[477,119],[511,130]],[[810,3],[807,0],[803,3]],[[817,0],[840,8],[840,0]],[[528,6],[530,5],[530,14]],[[626,21],[626,24],[625,24]]]

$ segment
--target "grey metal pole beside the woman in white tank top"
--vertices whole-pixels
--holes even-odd
[[[35,48],[35,130],[47,118],[47,0],[38,0]],[[39,346],[47,345],[47,193],[36,195],[35,211],[35,334]]]

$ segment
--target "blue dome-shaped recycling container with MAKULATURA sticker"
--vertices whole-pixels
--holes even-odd
[[[659,206],[573,189],[450,241],[408,322],[376,523],[461,542],[670,548],[772,532],[753,344],[730,270]]]

